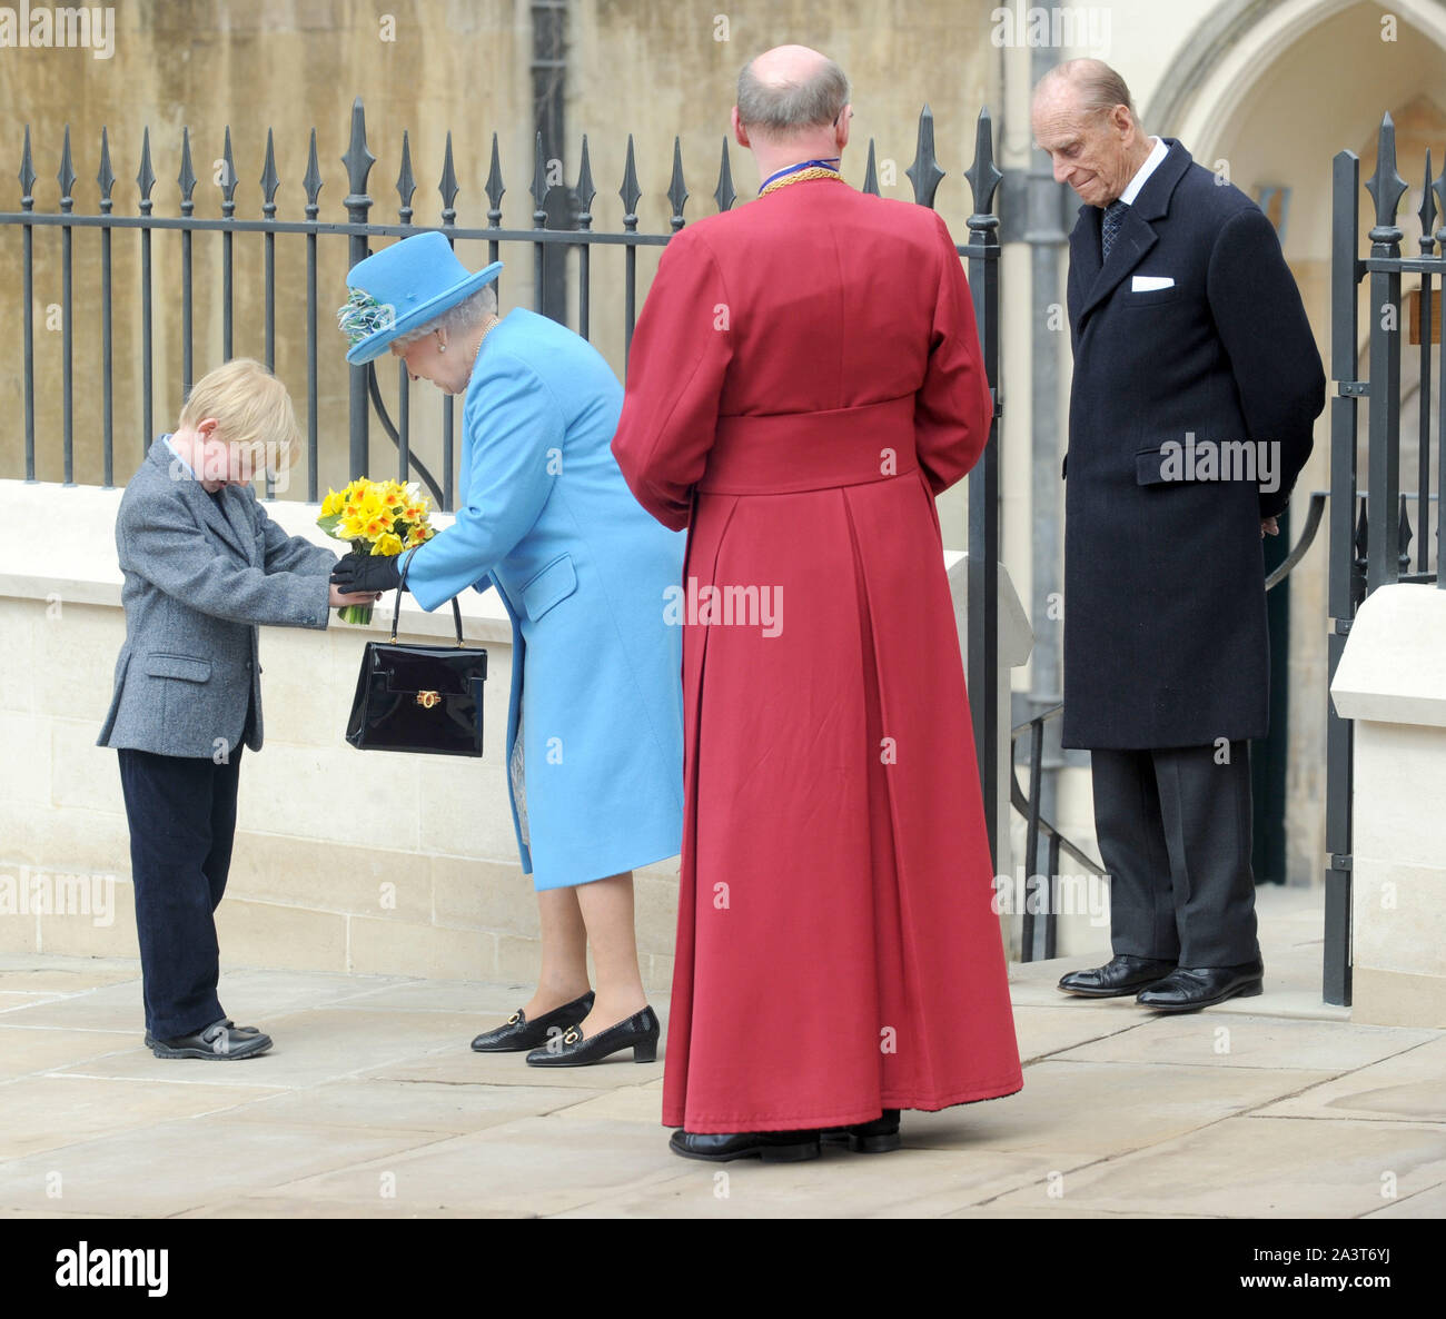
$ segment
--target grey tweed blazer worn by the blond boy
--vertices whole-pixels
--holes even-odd
[[[97,746],[158,755],[262,748],[256,625],[324,629],[338,555],[288,537],[250,486],[213,499],[156,440],[116,518],[126,644]]]

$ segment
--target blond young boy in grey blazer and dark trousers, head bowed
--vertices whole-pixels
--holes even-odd
[[[130,821],[146,1044],[156,1057],[243,1059],[270,1049],[215,995],[213,914],[236,833],[241,746],[262,748],[256,626],[327,626],[337,555],[288,537],[250,480],[295,461],[285,386],[236,359],[195,383],[174,434],[150,445],[116,518],[126,644],[98,746],[120,752]]]

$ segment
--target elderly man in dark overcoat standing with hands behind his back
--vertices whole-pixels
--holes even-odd
[[[1076,59],[1034,136],[1070,234],[1063,745],[1092,752],[1113,959],[1070,994],[1192,1011],[1261,992],[1248,739],[1270,723],[1261,538],[1325,405],[1271,223],[1124,80]]]

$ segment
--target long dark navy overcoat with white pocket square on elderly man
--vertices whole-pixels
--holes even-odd
[[[1265,735],[1259,522],[1285,508],[1325,406],[1320,354],[1270,220],[1164,140],[1109,263],[1099,207],[1080,207],[1070,234],[1071,748]]]

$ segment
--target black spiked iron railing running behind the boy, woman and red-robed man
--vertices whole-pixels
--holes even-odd
[[[305,189],[304,215],[299,218],[281,218],[276,201],[281,178],[276,171],[276,158],[270,130],[266,135],[266,159],[260,175],[262,205],[260,215],[243,218],[237,215],[237,171],[231,149],[231,133],[226,130],[224,148],[220,158],[221,169],[217,174],[217,187],[221,195],[220,218],[200,218],[195,214],[195,189],[198,178],[191,161],[191,133],[182,129],[179,143],[179,172],[176,185],[179,188],[179,214],[158,215],[152,192],[156,185],[156,174],[152,165],[150,133],[145,132],[140,152],[140,166],[136,174],[137,204],[134,215],[117,214],[113,200],[116,175],[111,169],[110,142],[106,130],[101,130],[100,142],[100,171],[95,182],[100,191],[100,205],[95,214],[77,214],[74,185],[77,174],[71,156],[71,133],[65,130],[61,150],[61,165],[56,179],[59,182],[59,207],[54,213],[38,211],[35,208],[35,184],[38,179],[33,166],[30,143],[30,129],[25,129],[25,143],[20,158],[20,210],[0,213],[0,233],[9,227],[19,227],[22,234],[22,282],[23,282],[23,334],[25,334],[25,364],[23,364],[23,401],[25,401],[25,467],[26,480],[35,480],[36,473],[36,370],[35,370],[35,236],[36,231],[59,230],[59,260],[62,273],[62,424],[61,445],[64,451],[65,483],[75,482],[75,380],[74,370],[75,346],[72,327],[77,315],[77,299],[74,289],[74,252],[77,230],[97,230],[101,272],[100,288],[95,291],[103,327],[103,354],[100,362],[100,377],[103,386],[101,396],[101,447],[103,447],[103,480],[111,485],[114,479],[114,399],[113,376],[114,354],[111,337],[113,302],[117,291],[111,278],[111,240],[117,230],[134,230],[139,243],[140,281],[139,289],[123,289],[121,296],[134,296],[140,302],[140,334],[134,351],[139,354],[140,376],[140,434],[143,443],[149,444],[156,435],[155,427],[155,286],[152,269],[150,240],[156,230],[179,230],[181,252],[179,269],[175,272],[175,286],[179,289],[181,301],[181,362],[182,362],[182,392],[191,389],[195,364],[194,323],[195,285],[194,285],[194,250],[192,243],[197,234],[220,236],[220,268],[221,268],[221,356],[228,359],[233,350],[234,320],[236,320],[236,263],[234,236],[237,233],[259,233],[263,236],[263,260],[260,281],[263,289],[263,343],[265,362],[275,369],[276,356],[276,327],[282,317],[282,308],[276,298],[276,240],[305,242],[307,262],[307,298],[305,298],[305,359],[307,359],[307,498],[317,500],[320,492],[318,470],[318,437],[322,427],[333,430],[331,418],[322,417],[318,398],[318,320],[327,324],[331,331],[331,307],[337,296],[324,299],[325,311],[318,299],[317,269],[318,243],[321,240],[346,237],[348,244],[348,263],[362,260],[376,239],[396,239],[414,233],[435,229],[447,234],[453,244],[457,243],[486,243],[487,260],[496,260],[503,244],[519,244],[532,247],[534,275],[534,308],[536,311],[560,312],[560,308],[545,305],[544,266],[549,249],[552,252],[577,252],[577,324],[583,337],[590,337],[593,328],[593,268],[591,252],[594,247],[623,249],[623,344],[625,367],[626,351],[632,343],[632,330],[638,312],[638,249],[664,246],[668,239],[683,229],[684,205],[688,200],[688,189],[684,181],[683,152],[680,140],[674,139],[672,175],[668,184],[668,202],[671,205],[668,233],[641,233],[638,229],[638,201],[643,195],[638,181],[633,142],[629,135],[626,165],[623,169],[619,198],[623,205],[622,229],[602,231],[593,227],[593,200],[596,188],[593,184],[591,165],[589,161],[587,137],[583,136],[581,153],[578,158],[577,182],[571,188],[564,184],[549,182],[548,162],[542,153],[542,136],[536,137],[535,158],[532,162],[532,181],[529,191],[534,200],[532,227],[506,229],[502,224],[502,197],[506,191],[502,178],[502,165],[497,150],[497,135],[492,136],[490,171],[483,187],[489,201],[487,224],[482,229],[469,229],[457,224],[457,197],[461,191],[455,165],[453,159],[451,135],[447,135],[447,149],[438,182],[441,195],[441,211],[437,224],[416,223],[418,217],[412,207],[416,191],[416,176],[412,169],[412,152],[408,135],[402,133],[399,169],[396,176],[398,211],[396,223],[376,223],[372,210],[376,204],[369,189],[369,179],[376,156],[367,145],[366,113],[360,97],[351,107],[350,140],[346,155],[341,158],[346,166],[347,192],[341,198],[346,208],[346,220],[321,218],[321,191],[324,185],[321,163],[317,155],[317,133],[311,130],[311,146],[307,171],[302,178]],[[946,176],[934,153],[934,117],[928,106],[924,106],[918,119],[917,148],[914,163],[905,171],[912,184],[914,200],[920,205],[933,207],[934,194],[940,181]],[[979,466],[969,482],[969,636],[966,639],[967,665],[970,677],[972,712],[975,745],[979,755],[980,778],[983,787],[985,811],[989,824],[989,836],[995,837],[996,807],[995,788],[998,777],[995,772],[993,748],[998,746],[998,579],[995,564],[999,560],[999,457],[998,457],[998,418],[999,406],[999,220],[993,214],[993,200],[1001,182],[1001,172],[995,166],[992,120],[988,108],[979,114],[975,133],[975,161],[964,172],[969,182],[973,211],[967,220],[969,242],[956,244],[959,253],[967,260],[969,282],[975,294],[975,314],[977,320],[979,338],[985,353],[985,367],[989,383],[993,388],[995,422],[991,428],[989,444],[985,448]],[[562,188],[570,197],[568,213],[573,217],[570,229],[549,229],[548,202],[557,188]],[[879,194],[875,143],[869,140],[868,162],[863,176],[863,191]],[[555,200],[555,198],[552,198]],[[727,139],[723,139],[723,150],[719,162],[717,184],[713,189],[713,200],[719,211],[729,210],[737,200],[733,188],[732,166],[729,162]],[[169,275],[171,272],[168,272]],[[90,308],[90,296],[82,295]],[[330,349],[328,349],[330,351]],[[133,363],[132,363],[133,366]],[[82,367],[84,369],[84,367]],[[440,471],[431,471],[425,463],[418,461],[412,451],[412,414],[411,396],[405,366],[398,363],[398,393],[395,421],[386,408],[377,373],[373,366],[350,367],[347,389],[347,418],[346,430],[348,435],[348,474],[360,476],[369,471],[369,428],[375,409],[389,440],[396,445],[398,473],[402,480],[419,479],[432,492],[441,509],[453,508],[455,492],[457,451],[454,445],[454,415],[453,401],[448,398],[441,411],[440,437]],[[87,386],[90,388],[90,386]],[[136,457],[143,456],[137,454]],[[19,474],[19,473],[0,473]],[[275,490],[268,486],[268,496]]]

